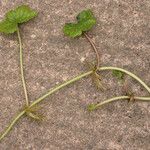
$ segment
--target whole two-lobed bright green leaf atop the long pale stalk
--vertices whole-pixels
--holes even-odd
[[[27,5],[21,5],[6,13],[4,20],[0,22],[0,32],[9,34],[17,31],[18,24],[29,21],[37,16],[37,12]]]

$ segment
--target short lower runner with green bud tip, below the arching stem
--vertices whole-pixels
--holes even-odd
[[[110,98],[110,99],[107,99],[105,100],[104,102],[101,102],[101,103],[98,103],[98,104],[90,104],[89,105],[89,110],[90,111],[93,111],[103,105],[106,105],[108,103],[111,103],[111,102],[115,102],[115,101],[118,101],[118,100],[127,100],[127,99],[130,99],[130,96],[118,96],[118,97],[113,97],[113,98]],[[139,100],[139,101],[150,101],[150,97],[134,97],[135,100]]]

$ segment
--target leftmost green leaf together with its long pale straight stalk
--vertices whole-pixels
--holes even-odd
[[[32,18],[37,16],[37,12],[32,10],[27,5],[21,5],[14,10],[10,10],[6,13],[5,18],[0,22],[0,32],[5,34],[13,34],[17,32],[18,42],[20,45],[20,70],[21,70],[21,79],[22,85],[24,89],[24,95],[26,100],[26,106],[29,106],[28,93],[26,88],[26,82],[24,77],[24,69],[23,69],[23,51],[22,51],[22,40],[19,31],[19,25],[25,23]]]

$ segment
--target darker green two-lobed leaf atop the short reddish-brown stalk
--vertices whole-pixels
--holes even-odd
[[[91,10],[84,10],[77,15],[77,23],[67,23],[63,28],[65,35],[69,37],[77,37],[83,32],[90,30],[95,24],[96,19]]]

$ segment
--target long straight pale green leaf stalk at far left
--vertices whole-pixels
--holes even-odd
[[[23,85],[23,90],[24,90],[26,105],[29,106],[28,93],[27,93],[27,87],[26,87],[26,82],[25,82],[25,77],[24,77],[24,70],[23,70],[23,50],[22,50],[22,41],[21,41],[19,27],[17,28],[17,35],[18,35],[18,41],[19,41],[19,47],[20,47],[21,80],[22,80],[22,85]]]

